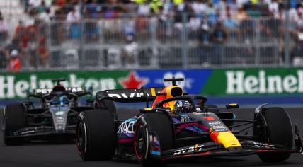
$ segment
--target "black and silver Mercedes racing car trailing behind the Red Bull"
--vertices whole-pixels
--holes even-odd
[[[57,82],[54,88],[28,91],[28,101],[7,105],[4,108],[4,142],[6,145],[20,145],[30,139],[74,139],[76,118],[79,113],[92,108],[92,101],[86,99],[81,106],[82,96],[92,95],[92,88],[64,88]],[[30,97],[39,98],[35,107]]]

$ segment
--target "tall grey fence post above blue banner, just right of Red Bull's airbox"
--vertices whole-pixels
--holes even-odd
[[[181,41],[182,41],[182,62],[183,69],[188,69],[188,30],[186,27],[188,13],[184,12],[182,14],[182,24],[183,30],[181,30]]]

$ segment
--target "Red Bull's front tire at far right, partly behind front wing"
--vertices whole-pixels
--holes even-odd
[[[253,133],[261,136],[261,142],[292,148],[292,122],[284,108],[263,108],[262,114],[256,119],[257,125],[253,127]],[[280,162],[288,159],[290,154],[290,152],[265,152],[258,156],[263,162]]]

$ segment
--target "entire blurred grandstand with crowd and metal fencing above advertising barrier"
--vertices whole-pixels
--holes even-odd
[[[302,1],[0,1],[0,69],[302,66]]]

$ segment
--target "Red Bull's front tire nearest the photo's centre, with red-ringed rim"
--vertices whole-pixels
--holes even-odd
[[[161,122],[161,123],[160,123]],[[161,151],[173,149],[174,134],[171,120],[164,113],[145,113],[135,125],[134,147],[137,160],[142,166],[164,165],[161,159],[151,156],[149,132],[154,132],[159,139]]]

